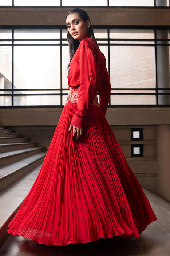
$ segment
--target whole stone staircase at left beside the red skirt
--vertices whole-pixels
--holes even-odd
[[[46,147],[0,126],[0,248],[8,223],[31,189],[46,155]]]

